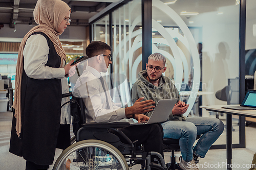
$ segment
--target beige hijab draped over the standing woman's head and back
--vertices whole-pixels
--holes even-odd
[[[58,27],[65,18],[66,14],[71,11],[68,4],[61,0],[38,0],[34,9],[34,20],[38,26],[33,27],[23,38],[18,50],[18,60],[16,65],[15,92],[13,108],[15,109],[14,116],[16,117],[16,133],[22,130],[22,107],[21,107],[21,83],[23,72],[23,50],[28,37],[34,32],[45,33],[53,42],[57,54],[61,58],[60,67],[63,66],[63,61],[66,61],[66,53],[63,50],[59,35]]]

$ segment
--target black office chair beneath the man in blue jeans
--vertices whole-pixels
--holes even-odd
[[[200,138],[201,135],[197,135],[197,139]],[[164,152],[172,152],[170,156],[170,163],[166,164],[166,167],[170,170],[182,170],[179,163],[176,162],[176,158],[174,155],[175,151],[180,151],[180,139],[172,139],[172,138],[163,138],[163,150]]]

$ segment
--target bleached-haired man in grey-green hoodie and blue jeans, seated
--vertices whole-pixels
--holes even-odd
[[[182,169],[199,169],[197,158],[204,158],[210,146],[219,138],[224,130],[221,120],[211,117],[185,117],[188,105],[180,101],[178,89],[172,81],[162,75],[165,72],[166,58],[159,53],[148,57],[146,70],[139,72],[139,79],[132,88],[132,102],[141,97],[144,100],[177,98],[177,103],[170,111],[169,120],[162,123],[164,138],[180,139],[180,167]],[[156,104],[155,104],[156,105]],[[144,113],[148,117],[151,112]],[[201,135],[193,148],[196,136]]]

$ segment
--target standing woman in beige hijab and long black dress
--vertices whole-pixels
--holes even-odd
[[[74,74],[58,36],[70,25],[70,7],[38,0],[33,27],[19,47],[10,152],[28,169],[48,169],[60,131],[61,79]],[[72,70],[72,71],[71,71]]]

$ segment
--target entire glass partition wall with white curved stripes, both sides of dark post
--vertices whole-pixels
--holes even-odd
[[[241,10],[245,11],[241,2],[245,4],[246,1],[152,0],[152,9],[148,9],[152,10],[152,16],[146,17],[152,22],[142,22],[147,11],[141,12],[145,8],[143,3],[151,1],[124,2],[124,5],[110,10],[108,15],[90,23],[92,40],[101,40],[112,46],[112,68],[109,70],[113,73],[112,86],[116,87],[115,84],[120,82],[120,75],[126,76],[127,83],[117,90],[118,94],[113,94],[114,101],[121,103],[120,106],[131,105],[130,89],[138,72],[145,69],[142,61],[147,61],[148,57],[142,50],[142,45],[146,44],[143,36],[150,36],[152,46],[147,46],[148,49],[152,48],[152,53],[158,52],[167,58],[164,74],[172,79],[180,90],[181,99],[189,104],[185,115],[218,117],[225,123],[225,114],[201,110],[199,106],[239,104],[244,96],[239,62],[245,40],[241,39]],[[99,26],[104,20],[105,26]],[[112,25],[111,36],[107,37],[109,34],[105,32],[102,33],[104,36],[99,35],[101,30],[97,27],[106,29],[109,24]],[[143,27],[152,28],[152,35],[145,35]],[[228,100],[219,98],[218,94],[227,88]],[[239,117],[233,117],[233,143],[239,143],[235,148],[245,147],[245,139],[240,135],[245,132],[245,127],[239,128],[238,122]],[[225,141],[225,131],[221,138]],[[225,143],[217,141],[215,144],[225,148]]]

